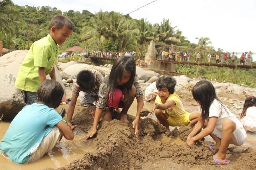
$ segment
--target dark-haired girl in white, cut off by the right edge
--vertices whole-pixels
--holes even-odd
[[[256,98],[254,96],[245,99],[240,121],[246,132],[256,132]]]

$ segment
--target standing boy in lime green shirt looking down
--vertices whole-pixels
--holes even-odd
[[[35,93],[50,74],[56,80],[54,65],[58,62],[59,45],[62,45],[75,29],[75,24],[63,15],[54,16],[49,25],[50,33],[35,41],[20,66],[15,87],[23,90],[27,104],[36,103]]]

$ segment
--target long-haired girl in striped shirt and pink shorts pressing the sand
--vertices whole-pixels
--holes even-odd
[[[140,111],[143,108],[143,93],[139,79],[135,76],[135,71],[135,61],[132,57],[121,56],[117,58],[109,76],[100,85],[99,100],[96,104],[93,127],[85,139],[91,138],[96,134],[97,126],[105,106],[107,106],[104,117],[106,120],[112,120],[113,109],[123,108],[120,120],[128,122],[127,111],[135,97],[138,105],[136,118],[132,122],[132,126],[135,129],[135,136],[138,136]]]

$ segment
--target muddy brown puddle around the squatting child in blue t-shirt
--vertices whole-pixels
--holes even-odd
[[[9,122],[2,122],[0,124],[0,140],[2,140],[9,124]],[[84,136],[75,135],[74,140],[69,141],[63,137],[42,159],[29,164],[15,164],[0,155],[0,169],[34,170],[35,167],[37,167],[36,169],[63,167],[75,159],[82,158],[86,152],[96,151],[95,143],[91,141],[85,143],[83,142],[83,138]]]

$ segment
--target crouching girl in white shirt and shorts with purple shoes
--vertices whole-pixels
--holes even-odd
[[[213,155],[214,162],[216,164],[230,164],[230,160],[226,157],[229,144],[233,143],[240,146],[247,139],[242,123],[218,99],[211,82],[207,80],[199,81],[194,86],[192,95],[197,103],[201,105],[202,116],[188,135],[187,145],[192,145],[195,141],[210,135],[216,141],[216,144],[209,148],[219,149]],[[198,133],[203,127],[204,129]]]

